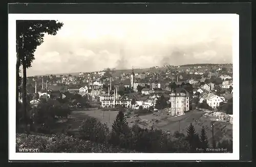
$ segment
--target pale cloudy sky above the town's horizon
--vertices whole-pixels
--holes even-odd
[[[63,27],[55,36],[45,35],[27,75],[232,63],[232,19],[195,18],[191,14],[61,17]]]

